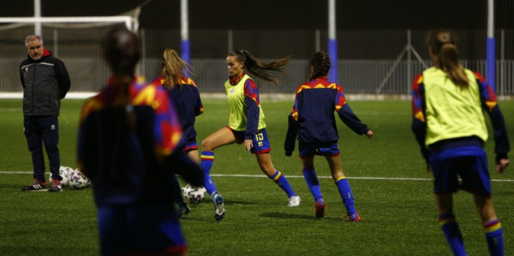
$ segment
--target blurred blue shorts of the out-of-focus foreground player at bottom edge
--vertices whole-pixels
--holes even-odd
[[[99,206],[98,226],[101,255],[187,250],[172,204]]]

